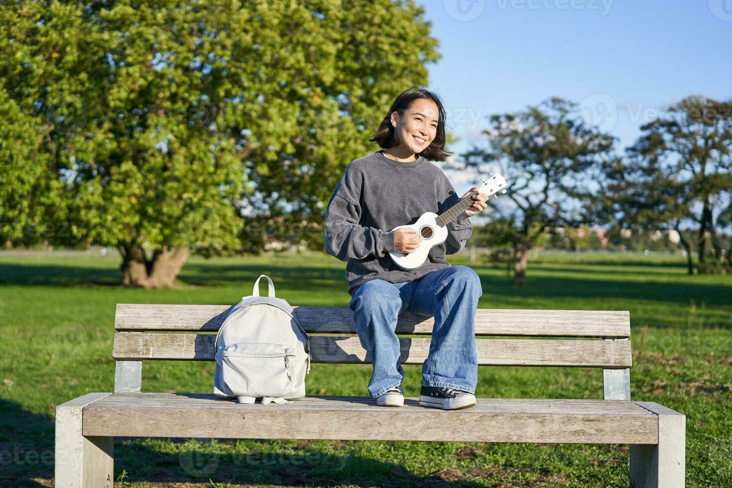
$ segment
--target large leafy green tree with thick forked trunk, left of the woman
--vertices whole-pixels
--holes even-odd
[[[343,168],[438,57],[423,14],[411,0],[5,6],[0,97],[28,130],[0,128],[2,147],[39,155],[3,163],[6,238],[63,216],[73,235],[51,241],[117,247],[124,283],[144,287],[172,285],[191,250],[256,251],[303,224],[321,247]]]

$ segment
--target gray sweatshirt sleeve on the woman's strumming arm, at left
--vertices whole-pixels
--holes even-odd
[[[384,258],[394,251],[394,230],[384,231],[359,225],[361,206],[356,203],[359,190],[346,175],[338,182],[325,214],[325,250],[342,261]]]

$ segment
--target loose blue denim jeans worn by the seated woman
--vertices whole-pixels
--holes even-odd
[[[405,310],[435,318],[430,352],[422,364],[422,385],[475,393],[474,319],[482,293],[480,278],[469,266],[436,269],[402,283],[372,279],[356,288],[348,308],[373,363],[369,394],[376,398],[404,378],[395,330],[397,318]]]

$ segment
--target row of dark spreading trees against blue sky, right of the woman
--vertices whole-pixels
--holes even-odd
[[[583,225],[609,236],[676,230],[690,274],[694,254],[698,273],[732,273],[732,101],[687,97],[641,132],[619,155],[615,138],[567,100],[490,116],[485,144],[452,166],[509,181],[512,204],[498,206],[484,239],[512,249],[515,284],[526,283],[529,250],[546,230]]]

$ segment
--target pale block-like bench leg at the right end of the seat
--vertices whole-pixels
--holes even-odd
[[[684,487],[686,417],[654,402],[635,403],[658,416],[658,444],[630,446],[630,487]]]

